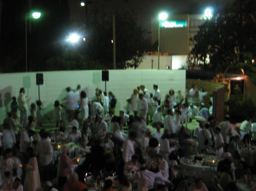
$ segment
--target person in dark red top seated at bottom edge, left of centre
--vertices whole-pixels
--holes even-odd
[[[68,176],[68,181],[64,184],[64,191],[88,191],[88,187],[78,181],[78,175],[72,172]]]

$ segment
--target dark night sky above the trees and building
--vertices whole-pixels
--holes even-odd
[[[30,3],[32,0],[28,0]],[[204,7],[209,3],[218,2],[218,0],[90,0],[93,4],[90,4],[88,9],[92,9],[94,6],[103,9],[106,12],[113,12],[115,10],[126,11],[134,10],[138,16],[138,24],[142,24],[144,27],[150,30],[151,17],[157,17],[160,11],[166,11],[168,14],[182,14],[187,13],[191,8],[192,3],[198,3],[198,14],[204,12]],[[223,5],[233,0],[219,0]],[[81,20],[85,17],[85,7],[80,6],[80,0],[69,0],[70,18],[71,20]],[[0,0],[0,13],[2,9],[2,3]],[[88,17],[90,14],[88,13]]]

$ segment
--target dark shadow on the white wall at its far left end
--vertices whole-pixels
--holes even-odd
[[[11,101],[12,101],[12,87],[8,86],[2,90],[0,90],[0,123],[1,121],[7,117],[7,112],[11,111]]]

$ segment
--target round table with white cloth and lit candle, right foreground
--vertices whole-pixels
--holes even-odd
[[[195,155],[191,155],[190,157],[194,158]],[[217,159],[218,157],[217,156],[211,156],[211,158]],[[203,160],[201,161],[201,163],[203,162]],[[185,157],[182,157],[179,162],[180,162],[180,167],[182,167],[183,170],[195,172],[197,178],[202,178],[202,172],[205,171],[205,170],[215,170],[215,171],[217,171],[217,166],[214,166],[214,167],[203,166],[203,165],[201,165],[201,163],[199,163],[199,164],[187,164]]]

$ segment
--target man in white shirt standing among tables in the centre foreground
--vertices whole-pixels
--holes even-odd
[[[136,132],[131,131],[129,138],[123,143],[123,160],[128,162],[132,159],[132,155],[135,154],[134,141],[136,140]]]

